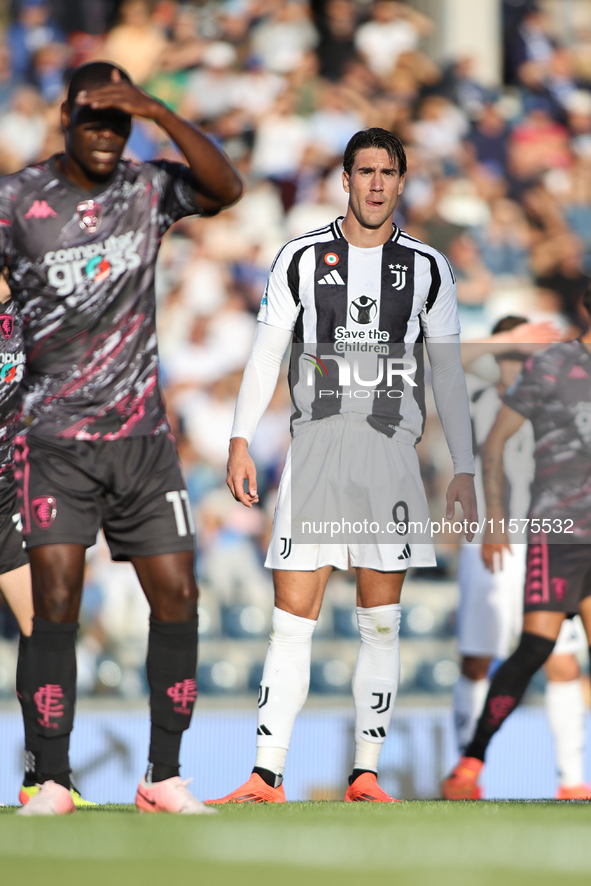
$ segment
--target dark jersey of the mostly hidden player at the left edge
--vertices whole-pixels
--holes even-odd
[[[0,509],[14,496],[14,435],[24,368],[22,321],[11,299],[0,304]]]

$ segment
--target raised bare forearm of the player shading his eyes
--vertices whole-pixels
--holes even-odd
[[[204,132],[159,103],[153,119],[185,155],[197,190],[205,198],[204,209],[215,212],[241,197],[242,179],[224,152]]]

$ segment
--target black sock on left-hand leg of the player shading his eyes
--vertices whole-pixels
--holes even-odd
[[[38,780],[53,779],[65,787],[76,704],[77,629],[77,624],[53,624],[35,616],[24,676],[38,739]]]

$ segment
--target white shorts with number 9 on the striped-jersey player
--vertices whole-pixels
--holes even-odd
[[[380,527],[375,538],[384,537],[388,539],[387,543],[354,543],[350,536],[347,543],[325,543],[326,535],[323,535],[322,543],[317,544],[292,540],[294,445],[298,447],[299,464],[305,464],[305,471],[298,471],[298,484],[303,484],[298,485],[297,490],[298,501],[302,502],[298,506],[300,517],[302,513],[316,514],[319,501],[328,503],[333,516],[350,515],[355,511],[359,516],[365,515],[370,523],[375,521]],[[425,525],[429,520],[419,460],[413,446],[386,437],[372,428],[364,416],[356,413],[310,422],[303,432],[298,432],[297,440],[292,442],[287,454],[265,566],[298,572],[314,571],[323,566],[348,569],[349,559],[351,566],[379,572],[404,572],[410,567],[435,566],[437,561],[432,543],[413,543],[412,529],[402,536],[386,530],[387,525],[394,525],[392,510],[399,502],[407,506],[409,521],[420,521]],[[396,513],[400,517],[402,509]],[[310,523],[316,525],[312,518]],[[301,519],[299,525],[302,525]],[[314,537],[313,533],[309,534]],[[421,533],[420,538],[428,539],[429,536]]]

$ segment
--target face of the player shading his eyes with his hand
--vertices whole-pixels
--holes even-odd
[[[62,126],[66,135],[66,154],[91,181],[109,178],[123,153],[131,132],[131,117],[120,111],[93,111],[62,106]]]

